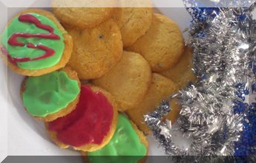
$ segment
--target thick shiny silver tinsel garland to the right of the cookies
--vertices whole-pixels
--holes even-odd
[[[255,74],[256,24],[251,8],[219,8],[205,21],[191,24],[190,46],[194,48],[194,72],[200,82],[191,84],[168,100],[179,97],[182,105],[177,122],[189,148],[177,147],[171,138],[171,125],[162,122],[171,111],[168,100],[145,122],[165,153],[171,156],[232,156],[234,142],[243,131],[243,114],[234,114],[237,83],[252,83]],[[214,11],[213,11],[214,12]],[[214,14],[214,13],[213,13]],[[243,20],[237,15],[243,15]]]

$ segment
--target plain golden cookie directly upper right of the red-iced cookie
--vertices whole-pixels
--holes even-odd
[[[151,69],[141,55],[123,52],[119,63],[92,83],[113,94],[118,110],[125,111],[142,101],[151,83]]]

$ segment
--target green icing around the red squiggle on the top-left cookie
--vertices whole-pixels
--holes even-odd
[[[33,43],[35,45],[42,44],[44,46],[48,46],[50,47],[50,49],[53,49],[55,51],[55,54],[50,58],[44,58],[42,60],[33,60],[17,64],[19,68],[29,70],[45,69],[54,66],[57,63],[59,63],[59,60],[62,58],[62,53],[65,49],[64,37],[62,35],[62,32],[59,30],[56,24],[49,18],[36,13],[30,14],[38,18],[39,21],[42,22],[42,24],[47,24],[50,25],[50,27],[53,27],[54,33],[56,35],[59,35],[60,40],[51,40],[46,38],[18,38],[18,41],[24,44]],[[10,56],[16,58],[36,58],[45,53],[45,51],[43,51],[42,49],[31,49],[27,48],[27,46],[10,46],[9,44],[7,44],[7,41],[10,38],[10,36],[16,32],[31,34],[49,33],[47,30],[39,29],[38,27],[36,27],[35,24],[24,23],[19,21],[18,17],[14,18],[11,24],[7,27],[6,30],[4,30],[1,36],[1,43],[4,45],[4,47],[7,48],[7,51],[9,52]]]

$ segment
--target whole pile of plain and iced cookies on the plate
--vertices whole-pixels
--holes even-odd
[[[17,14],[1,35],[1,58],[23,74],[28,114],[60,148],[88,162],[145,162],[143,115],[196,78],[177,24],[151,7],[60,7]],[[180,106],[170,102],[175,122]],[[97,157],[96,157],[97,156]],[[106,160],[108,159],[108,160]]]

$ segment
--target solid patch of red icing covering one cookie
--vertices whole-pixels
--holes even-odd
[[[57,138],[67,145],[99,145],[111,130],[113,114],[113,106],[104,94],[82,86],[76,109],[66,117],[49,122],[48,130],[55,131]]]

